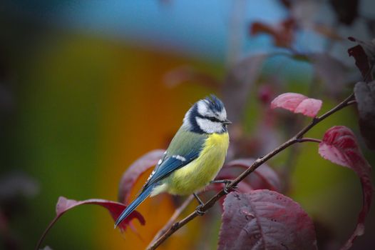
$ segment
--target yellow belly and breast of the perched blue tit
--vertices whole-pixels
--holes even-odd
[[[224,164],[229,146],[228,133],[211,134],[200,156],[165,179],[161,189],[170,194],[192,194],[210,183]],[[160,190],[162,191],[162,190]]]

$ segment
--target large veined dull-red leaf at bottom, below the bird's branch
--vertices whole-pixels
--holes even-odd
[[[314,225],[297,202],[275,191],[225,198],[218,249],[317,249]]]

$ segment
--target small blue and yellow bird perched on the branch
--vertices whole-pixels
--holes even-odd
[[[163,192],[182,196],[193,194],[199,204],[197,214],[204,214],[200,211],[203,203],[197,191],[210,183],[229,182],[214,179],[227,155],[227,125],[231,123],[224,104],[215,95],[211,94],[193,104],[138,196],[118,216],[115,228],[148,196]]]

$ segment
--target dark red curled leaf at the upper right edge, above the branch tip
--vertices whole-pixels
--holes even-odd
[[[349,56],[353,56],[356,60],[356,66],[361,71],[362,76],[365,78],[369,70],[375,64],[375,41],[361,41],[354,37],[349,37],[350,41],[356,41],[359,45],[348,49]],[[374,69],[372,69],[374,71]],[[370,80],[374,80],[371,72]],[[366,80],[366,79],[365,79]]]

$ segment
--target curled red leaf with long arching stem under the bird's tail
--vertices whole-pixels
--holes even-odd
[[[63,215],[65,214],[66,211],[73,209],[76,206],[81,206],[85,204],[94,204],[94,205],[99,205],[103,206],[105,209],[108,210],[108,212],[111,214],[113,221],[115,221],[118,216],[120,216],[121,212],[126,208],[124,204],[120,204],[115,201],[107,201],[103,199],[88,199],[85,201],[76,201],[72,199],[66,199],[63,196],[60,196],[58,198],[57,204],[56,204],[56,217],[51,221],[51,223],[48,225],[46,231],[43,232],[41,239],[38,241],[38,245],[36,246],[36,249],[39,249],[41,246],[41,243],[48,233],[49,229],[53,226],[53,224],[56,223],[56,221]],[[133,213],[130,214],[123,222],[120,223],[118,226],[121,231],[126,229],[126,226],[130,224],[130,221],[133,219],[138,219],[140,224],[144,225],[145,224],[145,219],[143,216],[138,212],[138,211],[133,211]]]

